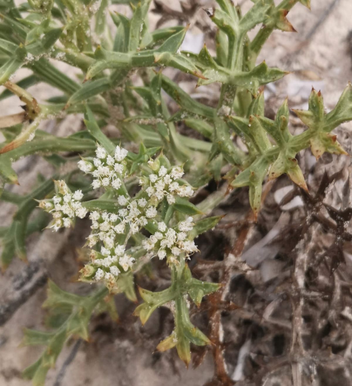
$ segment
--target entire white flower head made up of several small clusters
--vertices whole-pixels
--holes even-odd
[[[190,197],[194,193],[192,187],[181,179],[184,175],[181,166],[167,168],[160,165],[158,158],[150,159],[145,168],[141,168],[144,170],[144,175],[139,180],[141,190],[130,197],[124,188],[128,152],[116,146],[115,153],[111,156],[106,149],[98,146],[95,153],[95,158],[84,158],[79,161],[78,166],[86,174],[93,176],[94,189],[111,190],[116,197],[116,210],[94,210],[89,214],[92,223],[87,244],[92,250],[90,262],[81,271],[81,279],[103,280],[113,290],[118,276],[130,271],[135,263],[135,258],[131,256],[133,253],[127,249],[128,241],[148,223],[156,227],[157,231],[147,239],[141,235],[135,251],[143,250],[145,256],[150,258],[167,257],[168,264],[178,264],[180,259],[187,259],[197,251],[194,241],[189,239],[189,232],[194,226],[192,217],[174,227],[168,227],[165,222],[160,221],[158,214],[158,206],[164,197],[168,205],[172,205],[177,196]],[[163,162],[167,164],[168,161]],[[85,217],[88,210],[82,206],[82,198],[83,193],[80,190],[71,193],[64,181],[56,181],[56,195],[49,200],[40,201],[39,206],[52,213],[54,221],[51,227],[58,230],[69,227],[75,216]]]

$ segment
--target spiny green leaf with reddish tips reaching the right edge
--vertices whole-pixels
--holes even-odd
[[[257,98],[261,98],[260,96]],[[324,153],[347,154],[336,140],[336,135],[330,131],[352,119],[352,87],[349,83],[342,93],[336,107],[328,114],[325,113],[323,97],[312,90],[309,97],[308,110],[294,110],[308,129],[302,134],[293,136],[288,130],[287,99],[279,108],[276,119],[271,120],[263,116],[251,114],[248,118],[230,116],[229,122],[235,131],[250,143],[249,150],[254,161],[244,169],[232,182],[231,186],[249,186],[249,201],[254,213],[258,213],[261,200],[261,186],[269,173],[269,179],[277,178],[283,173],[301,188],[307,190],[303,173],[298,166],[296,154],[310,146],[317,159]],[[254,103],[252,104],[252,107]],[[267,134],[276,142],[271,144]],[[232,173],[228,174],[232,178]]]

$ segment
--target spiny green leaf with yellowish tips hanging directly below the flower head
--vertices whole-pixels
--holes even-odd
[[[190,296],[192,301],[199,306],[203,296],[217,289],[219,289],[219,284],[192,278],[187,264],[175,267],[172,270],[172,281],[169,288],[160,292],[139,289],[144,303],[136,308],[135,315],[139,316],[144,324],[158,307],[170,308],[175,319],[175,328],[169,337],[158,344],[157,349],[165,351],[176,347],[179,357],[188,366],[191,359],[190,343],[202,346],[209,344],[210,340],[191,323],[187,298]]]

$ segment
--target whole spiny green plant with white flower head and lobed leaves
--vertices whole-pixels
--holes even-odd
[[[249,187],[257,215],[267,176],[287,174],[307,190],[298,152],[310,146],[317,159],[324,152],[346,154],[331,131],[352,119],[350,83],[329,113],[320,91],[312,90],[308,110],[294,111],[307,126],[299,135],[289,130],[287,99],[275,120],[264,116],[263,86],[287,72],[265,62],[257,65],[258,54],[273,30],[295,30],[286,15],[296,3],[309,8],[310,1],[283,0],[277,6],[273,0],[252,1],[244,15],[230,0],[217,0],[217,8],[205,10],[218,28],[216,49],[212,53],[204,46],[195,54],[180,50],[188,26],[150,31],[151,0],[130,2],[130,19],[109,9],[123,0],[28,0],[19,5],[0,0],[0,85],[6,88],[0,100],[17,95],[24,103],[24,111],[0,120],[5,137],[0,149],[2,200],[17,205],[12,224],[0,228],[2,269],[13,256],[26,260],[29,234],[44,227],[71,227],[76,217],[89,213],[91,234],[80,280],[98,287],[91,295],[78,296],[49,283],[44,305],[50,309],[52,330],[26,330],[24,337],[24,344],[45,346],[24,371],[35,385],[44,384],[71,336],[88,339],[94,311],[117,318],[112,295],[125,293],[137,301],[134,273],[153,257],[170,267],[170,286],[160,292],[140,288],[143,303],[135,315],[145,323],[158,307],[168,307],[175,328],[157,348],[176,347],[188,365],[190,343],[210,343],[190,321],[189,298],[199,306],[219,285],[192,278],[187,260],[197,251],[195,238],[221,220],[206,214],[224,192],[197,205],[190,198],[223,177],[230,189]],[[261,28],[251,40],[248,32],[257,25]],[[58,62],[75,68],[72,76]],[[163,74],[165,66],[197,77],[198,86],[220,83],[217,107],[190,97]],[[12,76],[21,67],[31,74],[14,83]],[[39,82],[53,86],[57,95],[38,103],[28,88]],[[173,115],[165,94],[179,106]],[[84,114],[85,129],[68,137],[39,129],[45,119],[76,113]],[[180,134],[177,122],[195,130],[197,138]],[[108,124],[118,129],[116,137],[105,134]],[[51,165],[52,177],[39,176],[34,190],[24,196],[5,189],[6,183],[19,183],[12,163],[31,154]],[[225,176],[224,166],[231,169]],[[33,213],[35,200],[44,211]]]

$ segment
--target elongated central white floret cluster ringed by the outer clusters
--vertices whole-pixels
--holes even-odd
[[[148,205],[145,198],[130,200],[120,195],[118,203],[121,209],[117,213],[97,211],[91,212],[89,218],[92,220],[92,232],[88,236],[88,245],[93,247],[99,240],[111,249],[115,245],[115,238],[121,234],[136,234],[142,227],[147,225],[149,218],[157,215],[157,209]]]

